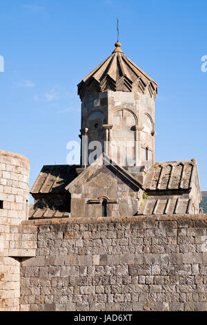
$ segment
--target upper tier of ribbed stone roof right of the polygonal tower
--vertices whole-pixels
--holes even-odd
[[[190,189],[194,172],[197,172],[195,159],[155,163],[146,174],[144,187],[146,191]]]

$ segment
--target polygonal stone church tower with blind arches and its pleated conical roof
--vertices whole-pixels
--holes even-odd
[[[101,142],[99,153],[104,150],[121,166],[155,163],[157,84],[120,46],[117,42],[112,54],[78,85],[84,166],[93,158],[93,141]]]

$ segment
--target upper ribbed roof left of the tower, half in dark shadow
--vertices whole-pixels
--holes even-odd
[[[45,165],[35,181],[31,194],[66,193],[68,185],[77,176],[79,165]]]

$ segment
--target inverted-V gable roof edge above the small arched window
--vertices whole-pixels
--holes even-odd
[[[121,166],[117,165],[116,163],[113,163],[108,156],[105,154],[101,154],[97,160],[95,160],[94,163],[86,167],[84,171],[77,176],[74,180],[72,180],[71,183],[69,183],[66,186],[66,190],[68,190],[71,194],[74,192],[75,188],[78,186],[79,183],[83,183],[84,181],[87,180],[87,178],[92,174],[95,169],[98,169],[100,166],[105,165],[106,167],[110,167],[112,171],[118,176],[121,177],[122,179],[125,179],[128,183],[128,185],[137,188],[137,191],[139,189],[143,189],[143,186],[141,183],[139,183],[131,174],[128,173],[124,168]]]

